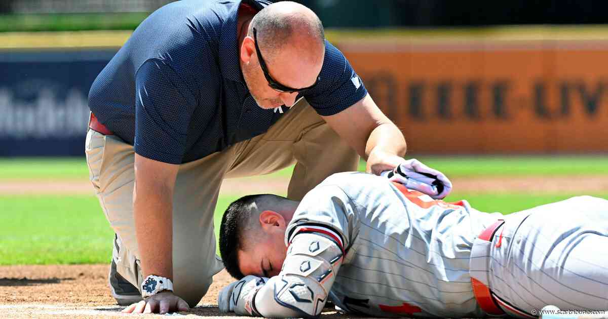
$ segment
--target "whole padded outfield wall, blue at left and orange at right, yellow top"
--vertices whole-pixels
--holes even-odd
[[[0,33],[0,156],[81,155],[130,32]],[[608,28],[328,31],[411,153],[608,151]]]

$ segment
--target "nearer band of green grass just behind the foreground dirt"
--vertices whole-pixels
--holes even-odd
[[[596,194],[608,199],[608,194]],[[481,211],[514,211],[567,199],[567,195],[454,194]],[[221,214],[238,196],[221,196],[215,212],[217,236]],[[113,232],[92,196],[0,196],[0,265],[95,264],[111,256]]]

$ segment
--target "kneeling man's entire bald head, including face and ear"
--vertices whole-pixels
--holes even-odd
[[[243,39],[239,55],[251,96],[264,109],[291,107],[297,91],[319,82],[325,59],[319,17],[301,4],[282,1],[244,23],[247,35],[237,33]]]

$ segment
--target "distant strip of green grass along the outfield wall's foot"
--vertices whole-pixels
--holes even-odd
[[[448,177],[608,174],[608,156],[413,156]],[[289,177],[293,168],[274,173]],[[365,170],[361,162],[359,170]],[[85,159],[0,159],[2,179],[87,179]]]

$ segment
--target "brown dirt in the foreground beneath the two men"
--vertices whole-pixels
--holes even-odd
[[[0,267],[2,318],[106,318],[122,314],[108,289],[108,265],[3,266]],[[222,271],[197,307],[184,317],[224,317],[217,307],[219,289],[232,281]],[[331,309],[326,318],[345,318]],[[136,318],[158,318],[139,315]],[[181,317],[181,316],[179,316]],[[243,318],[243,317],[238,317]]]

